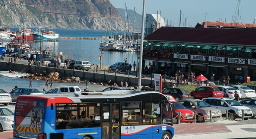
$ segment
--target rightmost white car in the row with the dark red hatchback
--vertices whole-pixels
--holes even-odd
[[[249,88],[247,86],[234,85],[231,87],[234,87],[235,89],[241,91],[242,98],[255,98],[256,97],[255,90],[252,90],[251,88]]]

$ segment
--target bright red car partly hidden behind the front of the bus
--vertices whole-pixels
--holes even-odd
[[[175,98],[171,95],[165,95],[169,102],[171,103],[172,111],[173,111],[173,124],[178,123],[178,115],[181,112],[181,122],[193,122],[194,121],[194,113],[191,110],[188,110],[179,102],[176,102]]]

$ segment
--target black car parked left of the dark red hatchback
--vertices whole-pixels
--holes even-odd
[[[179,88],[166,88],[162,91],[162,94],[165,95],[172,95],[176,101],[182,99],[190,99],[191,95],[186,89],[179,89]]]

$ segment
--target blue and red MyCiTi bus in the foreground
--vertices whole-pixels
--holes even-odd
[[[159,92],[20,95],[14,139],[171,139],[170,103]]]

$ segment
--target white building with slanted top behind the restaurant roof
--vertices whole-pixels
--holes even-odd
[[[160,14],[146,14],[146,34],[151,34],[162,26],[166,26],[166,23]]]

